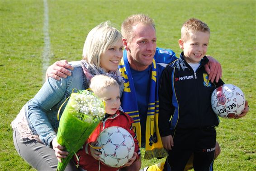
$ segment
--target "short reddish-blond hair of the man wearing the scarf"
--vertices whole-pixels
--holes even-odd
[[[155,23],[152,18],[145,14],[134,14],[126,18],[122,23],[121,32],[123,38],[128,41],[132,41],[135,36],[133,35],[133,27],[138,23],[142,23],[144,25],[152,25],[152,27],[156,30]]]

